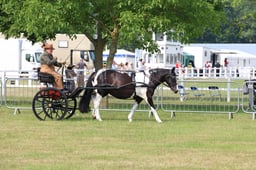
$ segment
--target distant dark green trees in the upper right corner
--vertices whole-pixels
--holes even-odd
[[[217,33],[209,30],[194,42],[205,43],[252,43],[256,42],[256,1],[225,1],[226,21]]]

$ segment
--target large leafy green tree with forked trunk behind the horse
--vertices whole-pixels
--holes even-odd
[[[0,31],[7,37],[22,33],[33,42],[54,39],[56,33],[85,34],[94,44],[99,69],[107,43],[110,67],[118,43],[156,51],[153,32],[188,43],[206,29],[216,31],[224,19],[221,4],[222,0],[0,0]]]

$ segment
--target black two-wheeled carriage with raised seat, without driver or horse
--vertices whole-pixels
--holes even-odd
[[[54,77],[38,71],[38,80],[44,84],[34,96],[32,110],[39,120],[62,120],[72,117],[77,107],[77,97],[83,91],[78,87],[72,93],[53,87]]]

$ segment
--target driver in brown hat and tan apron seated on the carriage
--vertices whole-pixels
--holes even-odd
[[[40,72],[51,74],[54,77],[54,84],[53,86],[62,90],[63,89],[63,82],[62,76],[57,71],[55,71],[55,67],[61,67],[62,64],[66,62],[59,63],[56,57],[53,57],[52,52],[54,50],[53,45],[49,43],[44,43],[42,45],[44,49],[44,53],[40,57],[41,69]]]

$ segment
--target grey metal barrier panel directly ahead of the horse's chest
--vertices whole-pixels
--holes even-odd
[[[216,80],[181,80],[184,89],[178,95],[163,88],[161,109],[170,112],[221,113],[228,114],[229,119],[239,111],[240,88],[230,81]],[[180,91],[183,90],[183,91]]]

